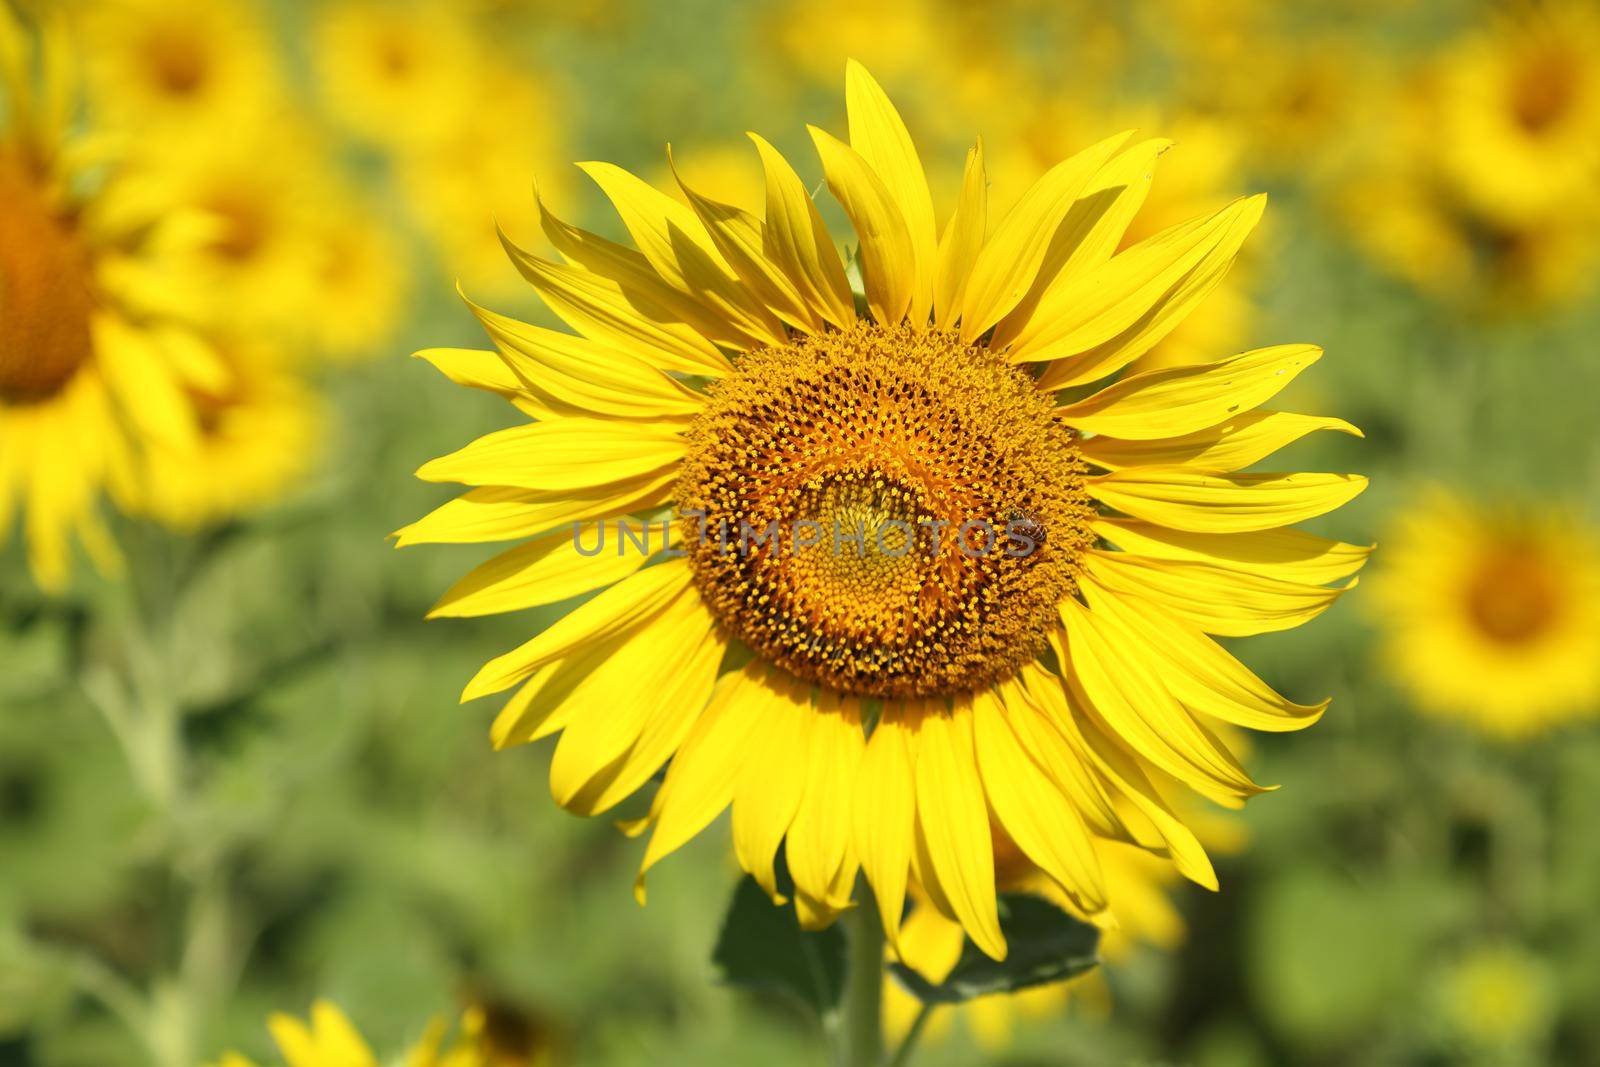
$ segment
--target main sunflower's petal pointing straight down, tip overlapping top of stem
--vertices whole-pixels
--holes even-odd
[[[856,774],[854,814],[856,854],[896,950],[917,819],[917,777],[904,715],[899,705],[883,707]]]

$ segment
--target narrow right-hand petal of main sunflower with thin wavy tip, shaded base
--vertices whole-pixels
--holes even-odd
[[[1106,470],[1190,466],[1202,470],[1232,472],[1259,462],[1317,430],[1338,430],[1362,437],[1357,427],[1331,416],[1296,414],[1293,411],[1240,411],[1216,426],[1165,440],[1090,437],[1078,445],[1078,451],[1086,461]]]

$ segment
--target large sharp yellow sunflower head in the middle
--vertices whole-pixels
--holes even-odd
[[[576,334],[477,309],[498,355],[426,354],[536,421],[426,464],[424,480],[475,488],[400,541],[528,539],[440,616],[600,590],[464,699],[515,689],[496,745],[562,734],[550,787],[576,813],[670,760],[638,824],[640,897],[731,805],[741,865],[782,899],[782,846],[805,925],[851,904],[859,869],[891,942],[912,885],[1003,957],[990,813],[1082,915],[1109,905],[1096,838],[1216,885],[1150,776],[1238,805],[1266,787],[1210,723],[1322,715],[1210,635],[1338,600],[1366,549],[1283,526],[1365,480],[1240,474],[1312,430],[1354,432],[1256,411],[1312,346],[1090,389],[1216,286],[1261,197],[1114,254],[1163,141],[1085,149],[992,230],[974,147],[941,235],[912,139],[858,64],[846,101],[850,144],[811,138],[861,242],[850,270],[762,138],[763,214],[582,165],[635,248],[547,210],[565,262],[507,242]],[[629,515],[619,534],[656,534],[650,565],[590,555],[605,526],[576,537]],[[643,525],[662,517],[666,537]]]

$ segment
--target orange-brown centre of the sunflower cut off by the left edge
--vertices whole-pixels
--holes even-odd
[[[0,402],[54,395],[90,358],[88,258],[21,160],[0,152]]]

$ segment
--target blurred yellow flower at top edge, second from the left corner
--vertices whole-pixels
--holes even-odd
[[[483,50],[459,5],[342,0],[318,13],[315,62],[328,114],[389,149],[432,144],[474,109]],[[526,133],[515,130],[517,141]]]

